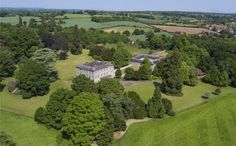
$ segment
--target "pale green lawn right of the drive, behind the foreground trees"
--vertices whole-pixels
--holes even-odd
[[[202,102],[204,102],[204,99],[201,98],[202,95],[206,92],[213,92],[217,87],[203,83],[201,81],[198,81],[197,86],[190,87],[190,86],[183,86],[183,96],[182,97],[176,97],[176,96],[167,96],[165,94],[162,94],[163,98],[168,98],[173,103],[173,109],[174,111],[181,111],[187,108],[191,108],[193,106],[199,105]],[[142,100],[147,103],[149,98],[152,97],[154,92],[154,85],[150,82],[144,82],[140,83],[135,86],[130,86],[125,89],[126,91],[135,91],[137,92]],[[232,87],[224,87],[222,88],[222,94],[226,95],[228,93],[236,93],[235,88]],[[211,95],[211,97],[214,97],[215,95]]]

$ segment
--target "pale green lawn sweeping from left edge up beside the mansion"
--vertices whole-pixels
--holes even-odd
[[[52,92],[58,88],[70,88],[72,79],[76,77],[76,66],[93,60],[88,56],[88,52],[88,50],[83,50],[83,54],[81,55],[69,54],[67,60],[56,62],[55,67],[59,71],[59,80],[51,84],[50,91],[45,96],[37,96],[24,100],[20,95],[12,94],[5,88],[3,92],[0,92],[0,109],[33,117],[38,107],[46,105]],[[11,79],[7,78],[4,82],[7,83]]]

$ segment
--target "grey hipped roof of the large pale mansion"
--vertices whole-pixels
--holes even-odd
[[[97,71],[97,70],[105,69],[105,68],[108,68],[111,66],[113,66],[113,65],[106,63],[106,62],[94,61],[94,62],[89,62],[89,63],[85,63],[82,65],[78,65],[77,68],[80,68],[83,70],[88,70],[88,71]]]

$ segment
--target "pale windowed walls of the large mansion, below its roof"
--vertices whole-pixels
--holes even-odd
[[[85,75],[95,83],[99,82],[102,78],[115,77],[115,69],[113,65],[105,65],[105,67],[101,68],[99,66],[91,68],[92,69],[85,69],[83,67],[77,67],[77,75]]]

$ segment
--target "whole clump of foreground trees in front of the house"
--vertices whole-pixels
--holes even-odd
[[[172,104],[161,98],[156,86],[154,95],[145,104],[136,92],[124,92],[116,79],[102,79],[95,84],[84,75],[72,82],[72,90],[57,89],[45,108],[35,112],[35,121],[60,131],[58,142],[72,145],[109,145],[113,132],[126,129],[126,119],[173,116]]]

